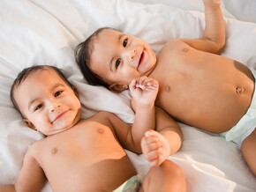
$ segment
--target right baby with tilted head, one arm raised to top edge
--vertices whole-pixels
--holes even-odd
[[[76,60],[90,84],[114,92],[143,76],[156,79],[156,106],[177,121],[237,143],[256,175],[256,73],[216,55],[225,45],[221,0],[203,2],[206,28],[200,39],[170,40],[154,55],[145,41],[105,27],[79,44]]]

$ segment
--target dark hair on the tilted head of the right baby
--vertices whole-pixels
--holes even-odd
[[[86,41],[79,43],[79,45],[75,48],[75,57],[76,62],[79,65],[79,69],[81,70],[84,78],[87,79],[88,84],[102,85],[106,88],[109,88],[108,83],[90,69],[93,41],[99,35],[99,33],[105,29],[112,29],[117,31],[117,29],[107,26],[97,29],[87,38]]]

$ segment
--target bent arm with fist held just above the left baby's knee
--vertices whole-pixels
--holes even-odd
[[[156,107],[156,131],[149,130],[142,138],[141,148],[151,166],[159,166],[177,152],[182,144],[182,131],[169,114]]]

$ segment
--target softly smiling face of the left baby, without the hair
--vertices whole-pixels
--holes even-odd
[[[30,74],[16,88],[14,98],[28,125],[46,136],[71,128],[81,116],[79,98],[55,70]]]

